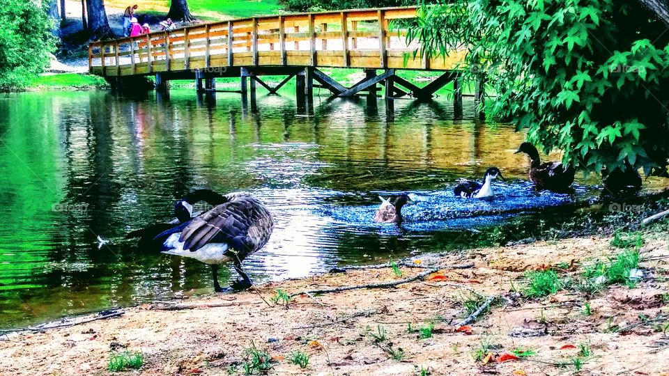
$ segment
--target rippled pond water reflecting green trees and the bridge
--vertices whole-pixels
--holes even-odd
[[[243,106],[238,95],[192,91],[3,95],[0,327],[210,292],[206,265],[123,240],[171,219],[174,201],[198,187],[252,191],[275,214],[268,246],[245,261],[255,281],[461,249],[477,228],[522,213],[534,221],[541,207],[589,194],[583,180],[574,196],[533,192],[528,161],[512,153],[523,134],[468,120],[472,102],[465,120],[453,120],[448,102],[394,107],[262,95]],[[508,179],[495,182],[497,196],[454,198],[459,178],[480,179],[489,166]],[[399,191],[417,198],[406,223],[372,223],[378,196]],[[109,244],[98,249],[98,235]]]

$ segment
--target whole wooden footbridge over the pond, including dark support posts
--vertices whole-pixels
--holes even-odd
[[[415,52],[419,45],[406,42],[406,25],[417,17],[415,7],[341,10],[233,19],[199,24],[174,31],[160,31],[133,38],[92,42],[89,71],[112,85],[154,75],[159,90],[171,79],[196,79],[199,92],[215,92],[216,77],[240,77],[238,92],[256,84],[276,93],[295,77],[298,95],[311,97],[314,87],[335,96],[360,92],[376,95],[377,84],[385,97],[410,95],[429,98],[454,81],[454,102],[461,104],[461,83],[456,67],[464,52],[446,58],[426,58]],[[360,68],[364,79],[347,87],[326,75],[322,68]],[[382,71],[378,73],[378,71]],[[402,70],[443,72],[419,87],[403,79]],[[284,75],[277,86],[260,77]],[[314,84],[316,81],[316,84]],[[204,85],[203,85],[204,83]],[[483,84],[477,84],[477,99]]]

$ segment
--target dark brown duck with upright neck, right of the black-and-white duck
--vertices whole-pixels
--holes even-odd
[[[573,166],[565,168],[562,162],[541,163],[537,148],[529,142],[521,143],[514,154],[524,152],[530,157],[530,180],[535,183],[537,189],[548,189],[551,191],[564,191],[569,189],[574,182],[576,169]]]

